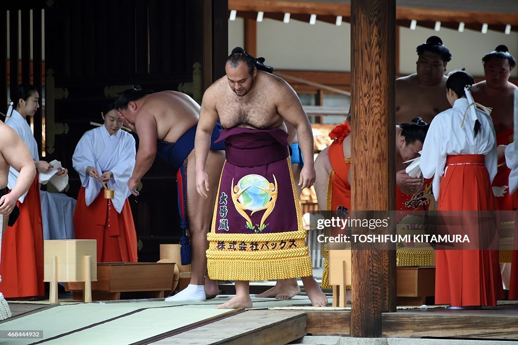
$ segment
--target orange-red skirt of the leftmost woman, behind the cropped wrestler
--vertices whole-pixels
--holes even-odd
[[[38,174],[23,200],[20,215],[2,239],[0,292],[7,298],[43,296],[43,227]]]

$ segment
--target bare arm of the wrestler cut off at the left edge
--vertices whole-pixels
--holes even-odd
[[[16,206],[16,200],[30,188],[36,176],[36,167],[31,153],[22,138],[8,126],[0,130],[0,150],[7,164],[18,172],[15,188],[0,198],[0,213],[9,214]]]

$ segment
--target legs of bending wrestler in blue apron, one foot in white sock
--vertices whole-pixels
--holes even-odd
[[[189,286],[166,301],[205,300],[206,295],[217,295],[218,283],[205,279],[207,270],[206,251],[209,248],[207,233],[210,231],[215,195],[225,155],[223,151],[209,151],[206,169],[209,171],[210,191],[205,199],[196,192],[194,150],[188,156],[187,165],[187,220],[191,236],[191,281]],[[219,170],[218,170],[219,169]],[[205,286],[204,286],[205,285]]]

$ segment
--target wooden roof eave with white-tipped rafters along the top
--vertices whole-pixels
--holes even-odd
[[[351,17],[350,0],[228,0],[228,10],[237,10],[237,17],[256,19],[263,11],[264,18],[282,20],[289,12],[291,19],[309,22],[310,15],[316,20],[335,23],[337,16],[344,22]],[[396,23],[410,26],[416,20],[418,26],[433,28],[436,21],[441,27],[457,30],[459,22],[466,29],[481,31],[488,24],[488,30],[504,32],[506,25],[511,31],[518,31],[518,0],[396,0]]]

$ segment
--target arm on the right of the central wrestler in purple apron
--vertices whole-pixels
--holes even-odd
[[[315,169],[313,166],[313,133],[309,119],[302,108],[300,99],[295,90],[284,80],[278,85],[276,92],[276,106],[279,115],[292,126],[295,127],[298,142],[304,159],[304,167],[300,172],[299,185],[301,189],[309,187],[315,181]]]

